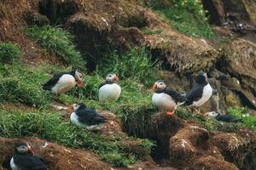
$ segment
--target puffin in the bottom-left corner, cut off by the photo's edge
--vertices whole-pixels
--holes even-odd
[[[12,170],[48,170],[44,161],[34,156],[31,146],[24,142],[15,144],[15,155],[9,165]]]

